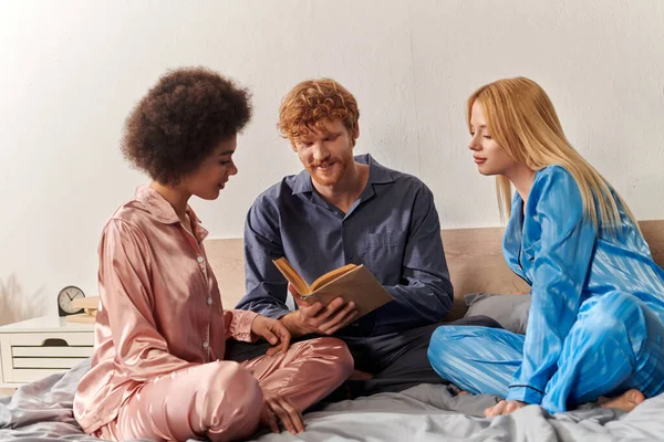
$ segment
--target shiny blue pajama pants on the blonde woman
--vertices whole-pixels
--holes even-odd
[[[506,397],[523,359],[525,336],[486,327],[440,326],[428,358],[444,379],[476,393]],[[620,292],[587,299],[563,341],[541,407],[567,411],[635,388],[664,392],[664,323],[637,297]]]

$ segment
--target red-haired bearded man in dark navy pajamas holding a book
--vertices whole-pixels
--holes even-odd
[[[269,188],[249,210],[247,295],[238,304],[279,318],[294,338],[342,338],[355,360],[353,396],[439,383],[426,349],[453,305],[434,196],[371,155],[353,156],[359,117],[355,97],[333,80],[302,82],[283,98],[279,127],[304,170]],[[394,301],[361,318],[340,297],[323,307],[293,296],[291,309],[288,283],[272,263],[281,256],[309,282],[364,264]]]

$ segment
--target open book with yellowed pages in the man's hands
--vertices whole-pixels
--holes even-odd
[[[361,317],[393,301],[385,287],[364,265],[344,265],[325,273],[309,285],[286,257],[272,262],[307,302],[318,301],[328,305],[341,296],[346,303],[355,303],[357,317]]]

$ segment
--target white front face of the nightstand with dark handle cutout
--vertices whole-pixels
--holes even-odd
[[[2,336],[2,381],[25,383],[69,370],[92,355],[94,334],[23,333]]]

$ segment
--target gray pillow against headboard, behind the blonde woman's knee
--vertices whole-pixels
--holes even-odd
[[[506,330],[526,334],[530,295],[491,295],[471,293],[464,298],[468,312],[464,317],[484,315],[495,319]]]

